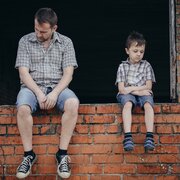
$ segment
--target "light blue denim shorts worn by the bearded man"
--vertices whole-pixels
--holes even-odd
[[[52,91],[52,88],[47,88],[47,94]],[[64,111],[64,103],[69,98],[77,98],[75,93],[69,88],[64,89],[58,96],[56,108]],[[16,106],[28,105],[31,107],[32,113],[39,109],[39,104],[36,95],[28,88],[22,87],[18,93]]]

